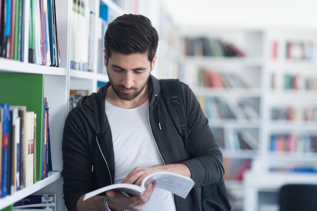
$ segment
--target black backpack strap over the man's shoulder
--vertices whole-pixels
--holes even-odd
[[[190,129],[187,127],[184,101],[179,87],[178,79],[160,79],[164,102],[178,133],[183,137],[186,150],[191,157],[194,156],[194,148],[189,140]]]

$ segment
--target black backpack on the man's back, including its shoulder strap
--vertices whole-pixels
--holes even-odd
[[[178,133],[183,137],[188,154],[193,157],[194,151],[189,140],[190,129],[186,124],[184,102],[182,100],[178,79],[160,79],[161,90],[165,104]],[[204,211],[232,210],[224,181],[219,184],[209,184],[198,188],[201,193],[202,209]]]

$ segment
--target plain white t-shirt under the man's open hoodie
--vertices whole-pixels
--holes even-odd
[[[136,167],[163,164],[150,130],[148,107],[148,100],[134,109],[118,108],[105,100],[114,151],[114,183],[120,183]],[[155,188],[142,210],[176,210],[172,193]]]

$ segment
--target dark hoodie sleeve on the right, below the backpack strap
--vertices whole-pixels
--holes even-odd
[[[190,169],[195,187],[218,184],[224,175],[222,152],[195,94],[184,83],[181,83],[181,90],[190,128],[190,141],[195,151],[195,157],[183,163]]]

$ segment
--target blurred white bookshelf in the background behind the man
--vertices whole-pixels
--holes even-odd
[[[303,80],[317,77],[317,62],[316,62],[316,30],[314,29],[296,29],[296,28],[243,28],[243,27],[210,27],[210,28],[191,28],[181,29],[182,37],[207,37],[207,38],[220,38],[224,41],[234,43],[237,47],[245,51],[246,57],[241,58],[226,58],[226,57],[203,57],[203,56],[185,56],[182,60],[184,63],[183,81],[191,86],[197,96],[214,97],[214,98],[251,98],[257,100],[257,109],[260,118],[257,121],[237,121],[232,119],[210,119],[210,126],[216,134],[223,131],[219,137],[223,139],[225,144],[227,139],[231,137],[234,130],[253,130],[257,131],[255,137],[258,140],[258,150],[231,150],[226,146],[222,148],[225,160],[260,160],[265,162],[263,166],[257,167],[263,170],[265,176],[269,173],[269,168],[274,163],[287,166],[288,164],[298,164],[299,166],[312,165],[312,161],[317,158],[316,152],[301,152],[291,153],[285,151],[284,153],[273,153],[270,149],[270,136],[272,134],[295,134],[303,135],[308,134],[316,136],[315,128],[316,121],[303,121],[303,120],[271,120],[271,110],[274,107],[313,107],[317,106],[316,89],[305,90],[303,88]],[[278,42],[278,51],[276,52],[276,59],[272,59],[271,47],[272,42]],[[286,43],[290,42],[303,42],[313,43],[313,53],[311,59],[286,59]],[[181,49],[184,52],[185,49]],[[300,49],[297,49],[300,50]],[[311,49],[310,49],[311,50]],[[299,52],[295,52],[298,55]],[[241,76],[251,84],[250,88],[210,88],[200,86],[201,82],[197,80],[197,69],[206,68],[212,71],[236,71],[241,73]],[[272,78],[271,75],[275,74],[275,88],[271,88]],[[285,90],[283,85],[283,77],[285,74],[293,74],[298,76],[302,81],[299,88]],[[204,103],[203,103],[204,104]],[[206,107],[206,103],[204,105]],[[232,141],[231,141],[232,142]],[[221,145],[221,144],[220,144]],[[257,162],[256,162],[257,163]],[[235,164],[235,163],[234,163]],[[224,165],[227,165],[224,163]],[[254,165],[251,165],[251,168]],[[313,166],[314,167],[314,166]],[[233,168],[234,169],[234,168]],[[228,171],[232,176],[232,170]],[[256,172],[256,171],[255,171]],[[253,175],[254,176],[254,175]],[[287,177],[288,175],[286,175]],[[269,177],[269,176],[268,176]],[[283,177],[283,175],[281,176]],[[225,175],[225,179],[226,179]],[[250,178],[250,177],[249,177]],[[256,176],[254,177],[256,178]],[[233,180],[232,180],[233,179]],[[226,187],[230,192],[231,184],[234,183],[234,178],[226,179]],[[305,181],[305,178],[298,177],[297,181]],[[259,182],[261,183],[261,182]],[[270,183],[270,180],[267,180]],[[249,182],[243,180],[243,183],[238,183],[240,189],[245,185],[249,186]],[[273,182],[272,182],[273,184]],[[252,186],[252,185],[251,185]],[[251,188],[250,186],[250,188]],[[275,189],[278,187],[273,184]],[[253,204],[255,196],[245,197],[244,209],[258,210],[259,207],[247,208],[248,204]],[[257,200],[257,199],[256,199]],[[235,209],[235,207],[233,207]],[[242,210],[237,207],[236,210]]]

